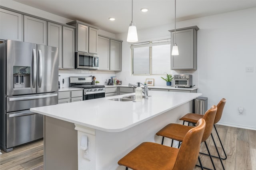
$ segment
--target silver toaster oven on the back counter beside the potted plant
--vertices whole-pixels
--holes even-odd
[[[174,75],[174,87],[192,87],[192,75],[191,74]]]

